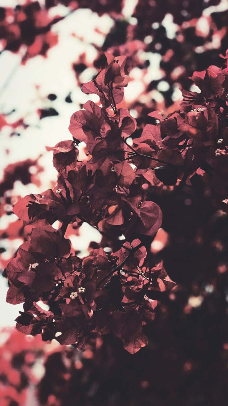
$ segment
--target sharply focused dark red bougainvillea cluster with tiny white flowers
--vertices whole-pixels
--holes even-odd
[[[125,59],[105,53],[103,65],[82,87],[98,94],[101,105],[85,103],[70,119],[73,140],[48,147],[57,186],[14,206],[28,240],[7,266],[7,301],[24,302],[16,319],[23,333],[80,349],[92,334],[111,333],[134,353],[146,345],[143,326],[154,319],[161,292],[175,286],[151,252],[162,225],[153,189],[180,190],[202,181],[215,202],[228,194],[227,73],[215,66],[195,72],[192,80],[201,93],[183,91],[179,112],[162,117],[153,111],[153,123],[139,131],[128,110],[118,108],[128,83]],[[216,154],[221,138],[224,150]],[[58,230],[52,227],[56,220],[62,224]],[[77,229],[82,222],[98,229],[102,241],[81,259],[65,233],[68,225]]]

